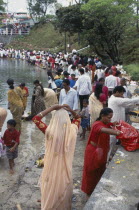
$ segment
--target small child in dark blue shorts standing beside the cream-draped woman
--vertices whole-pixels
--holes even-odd
[[[83,100],[83,108],[82,111],[80,112],[80,116],[81,116],[81,127],[82,127],[82,133],[80,137],[82,137],[81,140],[84,140],[86,131],[90,129],[90,114],[89,114],[89,105],[87,99]]]

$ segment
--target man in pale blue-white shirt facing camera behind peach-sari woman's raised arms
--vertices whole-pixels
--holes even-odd
[[[59,104],[67,104],[72,110],[78,109],[77,91],[70,87],[68,79],[63,80],[63,89],[60,91]]]

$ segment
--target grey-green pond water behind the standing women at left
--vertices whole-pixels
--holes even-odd
[[[0,59],[0,106],[7,108],[7,91],[8,85],[6,83],[8,78],[15,81],[15,85],[25,82],[29,88],[29,102],[27,109],[30,109],[30,100],[33,91],[33,81],[38,79],[42,82],[44,87],[48,86],[47,71],[36,66],[28,65],[26,61],[18,59]]]

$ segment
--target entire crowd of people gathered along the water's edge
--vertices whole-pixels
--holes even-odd
[[[39,80],[34,81],[31,114],[27,117],[45,134],[46,152],[40,181],[41,208],[70,210],[72,163],[80,126],[80,140],[85,140],[86,133],[89,134],[81,186],[89,197],[112,158],[115,144],[119,143],[117,139],[121,132],[115,125],[120,120],[126,120],[126,109],[139,104],[139,97],[131,98],[121,65],[107,67],[98,57],[81,56],[75,51],[69,56],[62,53],[7,51],[8,57],[24,57],[32,65],[39,62],[47,68],[48,87],[44,88]],[[14,87],[13,79],[8,79],[7,84],[8,106],[13,119],[7,122],[2,140],[6,145],[10,172],[13,173],[29,90],[25,83]],[[52,118],[46,125],[41,119],[50,112]]]

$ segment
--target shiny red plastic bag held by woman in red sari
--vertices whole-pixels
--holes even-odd
[[[117,136],[117,139],[121,141],[125,150],[135,151],[139,149],[139,132],[133,126],[121,120],[116,129],[122,132]]]

